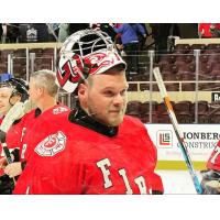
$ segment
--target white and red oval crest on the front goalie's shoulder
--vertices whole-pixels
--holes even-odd
[[[62,152],[66,146],[66,136],[62,131],[51,134],[40,142],[34,151],[40,156],[54,156]]]

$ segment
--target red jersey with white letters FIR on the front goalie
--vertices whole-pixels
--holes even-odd
[[[45,118],[42,124],[35,123],[35,133],[44,135],[33,141],[33,154],[14,194],[163,191],[161,177],[154,173],[156,148],[139,120],[124,117],[112,136],[66,117]]]

